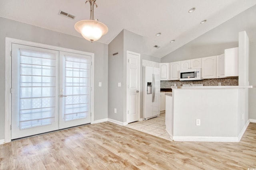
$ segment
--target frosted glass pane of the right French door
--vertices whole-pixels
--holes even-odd
[[[90,109],[90,74],[90,57],[65,56],[65,121],[87,117]]]

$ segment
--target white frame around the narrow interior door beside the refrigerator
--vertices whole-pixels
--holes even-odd
[[[126,59],[127,59],[127,63],[126,63],[126,89],[128,88],[128,76],[127,76],[127,74],[128,74],[128,53],[130,53],[130,54],[134,54],[134,55],[138,55],[138,57],[139,57],[139,82],[138,82],[138,86],[139,86],[139,90],[140,90],[140,54],[139,53],[134,53],[134,52],[132,52],[132,51],[127,51],[126,52]],[[138,114],[138,120],[140,121],[140,93],[141,92],[139,92],[139,98],[138,98],[138,111],[139,111],[139,114]],[[128,121],[127,121],[127,117],[128,117],[128,90],[126,90],[126,122],[124,123],[124,125],[127,125],[128,123]]]

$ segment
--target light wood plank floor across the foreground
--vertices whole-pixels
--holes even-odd
[[[256,123],[240,143],[167,141],[104,122],[0,145],[1,170],[248,168],[256,168]]]

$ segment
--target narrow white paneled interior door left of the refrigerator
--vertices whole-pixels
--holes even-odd
[[[140,117],[140,54],[127,51],[127,123]]]

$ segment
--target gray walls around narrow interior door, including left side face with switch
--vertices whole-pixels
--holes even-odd
[[[126,122],[126,69],[127,51],[141,54],[142,36],[128,30],[122,30],[108,45],[108,118]],[[118,55],[113,56],[113,53]],[[142,59],[160,63],[160,59],[148,55],[140,55],[140,117],[142,117]],[[118,87],[118,82],[122,86]],[[114,108],[117,113],[114,113]]]

